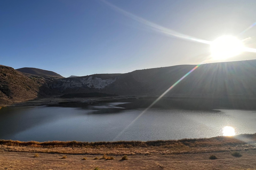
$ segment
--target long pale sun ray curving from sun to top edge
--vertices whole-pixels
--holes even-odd
[[[135,21],[138,21],[138,22],[140,22],[142,24],[148,25],[151,29],[153,29],[153,30],[155,30],[157,32],[164,33],[165,35],[168,35],[168,36],[173,36],[173,37],[178,37],[178,38],[189,40],[189,41],[194,41],[194,42],[197,42],[197,43],[203,43],[203,44],[208,44],[208,45],[211,44],[211,41],[207,41],[207,40],[191,37],[191,36],[179,33],[177,31],[174,31],[174,30],[162,27],[161,25],[158,25],[156,23],[150,22],[150,21],[145,20],[143,18],[140,18],[139,16],[134,15],[134,14],[132,14],[130,12],[127,12],[127,11],[123,10],[122,8],[119,8],[119,7],[113,5],[113,4],[111,4],[111,3],[109,3],[109,2],[107,2],[105,0],[101,0],[101,2],[107,4],[108,6],[113,8],[113,10],[115,10],[115,11],[117,11],[119,13],[122,13],[123,15],[126,15],[126,16],[128,16],[129,18],[131,18],[131,19],[133,19]]]

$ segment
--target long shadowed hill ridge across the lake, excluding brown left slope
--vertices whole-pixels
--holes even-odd
[[[125,74],[94,74],[55,80],[51,88],[70,92],[117,95],[161,95],[196,65],[137,70]],[[199,66],[166,96],[227,97],[256,95],[256,60]]]

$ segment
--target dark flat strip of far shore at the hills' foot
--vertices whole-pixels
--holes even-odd
[[[105,102],[115,102],[119,100],[132,100],[132,99],[157,99],[158,96],[114,96],[114,97],[85,97],[85,98],[60,98],[59,96],[49,97],[49,98],[36,98],[31,99],[27,101],[16,101],[15,103],[11,103],[9,105],[1,105],[0,109],[3,107],[15,107],[15,106],[60,106],[63,104],[84,104],[84,105],[90,105],[90,104],[97,104],[97,103],[105,103]],[[206,104],[201,103],[200,105],[196,104],[201,100],[201,98],[193,99],[196,103],[189,104],[191,98],[180,98],[180,97],[163,97],[161,100],[159,100],[158,103],[162,103],[170,108],[178,108],[178,109],[188,109],[188,110],[213,110],[213,109],[242,109],[247,111],[256,111],[256,105],[254,106],[222,106],[222,105],[216,105],[216,106],[210,106]],[[209,99],[210,100],[210,99]],[[217,99],[213,99],[217,100]],[[226,100],[226,99],[223,99]],[[251,100],[251,99],[250,99]],[[256,101],[256,99],[253,99],[253,101]],[[154,100],[152,101],[152,103]],[[191,101],[192,102],[192,101]],[[203,102],[203,101],[202,101]],[[250,101],[251,102],[251,101]],[[151,103],[150,103],[151,104]],[[150,105],[149,104],[149,105]],[[253,103],[254,104],[254,103]]]

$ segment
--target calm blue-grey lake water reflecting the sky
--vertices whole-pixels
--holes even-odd
[[[119,141],[210,138],[225,126],[236,134],[256,132],[256,111],[195,111],[150,108],[151,101],[63,104],[0,109],[0,139],[20,141]]]

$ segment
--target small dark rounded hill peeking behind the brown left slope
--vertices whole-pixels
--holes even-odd
[[[40,75],[43,77],[55,77],[55,78],[63,78],[60,74],[57,74],[53,71],[47,71],[42,69],[36,69],[32,67],[23,67],[21,69],[16,69],[17,71],[20,71],[22,73],[28,73],[28,74],[34,74],[34,75]]]

